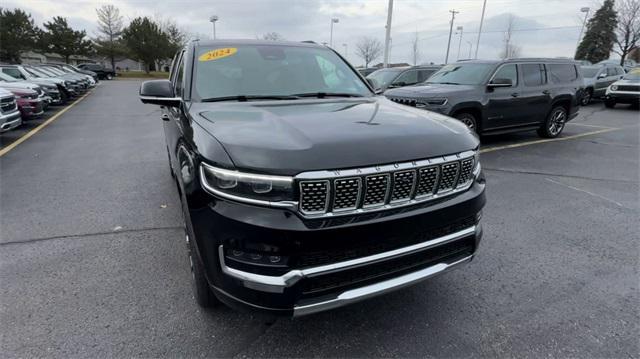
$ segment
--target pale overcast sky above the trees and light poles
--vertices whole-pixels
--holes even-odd
[[[155,1],[117,0],[4,0],[3,7],[21,8],[31,13],[38,25],[53,16],[64,16],[76,29],[95,36],[95,9],[104,4],[117,6],[125,20],[137,16],[173,19],[191,34],[212,36],[210,15],[218,15],[218,38],[256,38],[267,32],[278,32],[287,40],[329,42],[331,18],[334,24],[333,47],[344,53],[355,65],[363,62],[355,55],[355,45],[362,36],[384,41],[387,0],[226,0],[226,1]],[[478,57],[499,55],[503,31],[509,14],[515,16],[513,42],[521,48],[521,56],[573,56],[580,33],[580,8],[598,0],[487,0],[485,24]],[[451,39],[449,59],[467,58],[471,42],[475,44],[482,11],[482,0],[396,0],[392,21],[391,62],[413,62],[412,41],[419,38],[419,63],[444,62],[449,34],[449,10],[459,11],[454,22],[463,27]],[[380,59],[382,61],[382,59]]]

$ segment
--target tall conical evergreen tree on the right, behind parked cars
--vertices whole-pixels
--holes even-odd
[[[597,63],[609,58],[616,41],[617,14],[613,0],[605,0],[587,23],[587,31],[576,50],[575,58]]]

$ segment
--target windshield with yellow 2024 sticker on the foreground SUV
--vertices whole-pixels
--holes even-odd
[[[201,100],[308,93],[371,95],[367,85],[333,51],[317,47],[201,47],[193,78],[194,92]]]

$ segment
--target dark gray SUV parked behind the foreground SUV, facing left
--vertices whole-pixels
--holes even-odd
[[[560,135],[578,115],[583,80],[573,60],[461,61],[423,86],[391,89],[392,101],[455,117],[479,134],[537,129]]]

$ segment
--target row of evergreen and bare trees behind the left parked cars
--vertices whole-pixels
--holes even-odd
[[[67,19],[56,16],[39,27],[31,14],[20,9],[0,8],[0,61],[20,63],[27,51],[57,53],[65,62],[72,55],[103,56],[111,67],[125,58],[142,62],[145,71],[171,59],[184,46],[187,33],[169,19],[137,17],[125,24],[113,5],[96,9],[97,34],[90,38],[84,30],[74,30]]]

